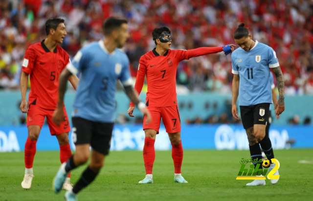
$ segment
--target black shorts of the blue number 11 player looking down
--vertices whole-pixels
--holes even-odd
[[[260,103],[252,106],[240,106],[240,115],[244,128],[253,127],[254,124],[267,125],[269,103]]]

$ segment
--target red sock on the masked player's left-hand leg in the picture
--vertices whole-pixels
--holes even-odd
[[[145,163],[146,175],[152,174],[153,163],[155,162],[155,139],[146,137],[143,146],[143,161]]]

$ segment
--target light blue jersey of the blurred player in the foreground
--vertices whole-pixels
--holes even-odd
[[[117,79],[123,86],[132,85],[127,55],[118,48],[110,54],[100,40],[80,49],[67,69],[72,74],[81,72],[73,117],[113,123]]]

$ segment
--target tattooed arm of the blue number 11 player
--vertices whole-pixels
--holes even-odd
[[[280,115],[285,111],[285,83],[284,83],[284,77],[282,70],[280,67],[273,67],[272,68],[276,81],[277,81],[277,88],[279,92],[279,98],[278,101],[275,103],[275,114]]]

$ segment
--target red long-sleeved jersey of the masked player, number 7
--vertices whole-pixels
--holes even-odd
[[[160,56],[156,48],[140,57],[135,89],[140,93],[143,78],[147,75],[148,91],[146,105],[168,107],[178,105],[176,94],[176,72],[180,61],[223,51],[222,47],[201,47],[191,50],[168,50]],[[139,79],[138,79],[139,78]],[[137,83],[138,82],[138,83]],[[142,82],[139,83],[139,82]],[[134,106],[131,103],[131,106]]]

